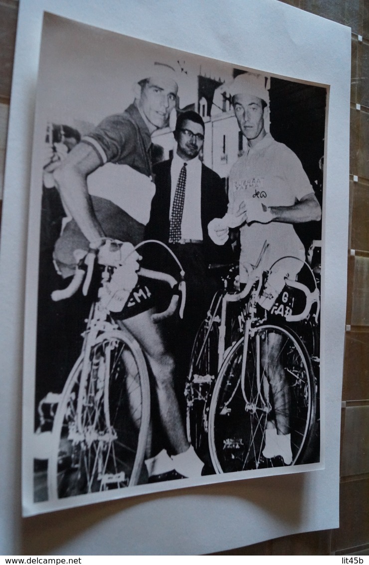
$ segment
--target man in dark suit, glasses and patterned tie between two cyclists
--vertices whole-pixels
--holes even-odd
[[[176,153],[173,159],[153,168],[156,193],[145,234],[146,238],[167,244],[185,271],[186,306],[180,340],[174,334],[181,343],[183,370],[188,366],[198,326],[219,288],[219,280],[209,266],[232,261],[231,245],[215,245],[207,232],[209,222],[227,211],[228,199],[219,175],[199,160],[204,133],[197,112],[179,114],[174,132]]]

